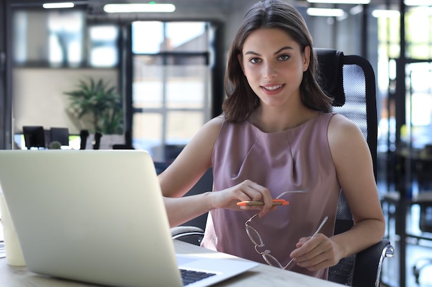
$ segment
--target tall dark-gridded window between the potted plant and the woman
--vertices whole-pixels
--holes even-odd
[[[172,160],[210,117],[210,39],[206,22],[132,23],[133,142],[155,160]]]

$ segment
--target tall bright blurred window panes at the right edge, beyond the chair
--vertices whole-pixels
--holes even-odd
[[[394,10],[395,11],[395,10]],[[395,11],[396,12],[396,11]],[[396,149],[395,99],[386,96],[395,94],[396,59],[400,55],[400,14],[382,17],[378,23],[378,92],[384,96],[379,114],[378,151]],[[407,125],[400,130],[402,142],[411,142],[413,147],[422,148],[432,142],[431,129],[431,77],[432,61],[432,7],[409,7],[405,14],[406,43],[406,119]],[[421,27],[421,29],[419,29]],[[416,63],[419,62],[419,63]],[[412,127],[411,127],[412,126]],[[387,147],[389,145],[389,147]]]

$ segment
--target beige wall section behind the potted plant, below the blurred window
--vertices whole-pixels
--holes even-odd
[[[79,80],[104,78],[118,87],[117,70],[110,69],[50,69],[14,68],[12,97],[14,100],[14,133],[20,133],[23,125],[68,127],[70,134],[81,129],[91,129],[84,120],[78,121],[67,112],[69,98],[63,92],[77,89]]]

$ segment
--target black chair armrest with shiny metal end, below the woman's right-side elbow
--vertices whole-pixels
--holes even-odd
[[[357,253],[353,286],[380,286],[382,262],[385,257],[393,257],[394,252],[389,240],[381,240],[381,242]]]

